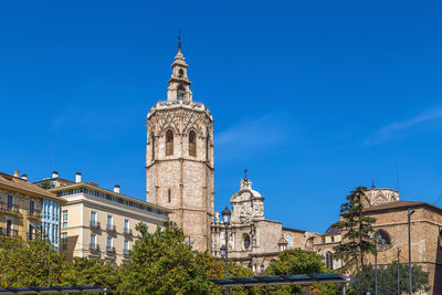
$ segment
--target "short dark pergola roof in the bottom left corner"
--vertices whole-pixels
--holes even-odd
[[[0,294],[53,294],[53,293],[103,293],[107,288],[99,286],[51,286],[51,287],[6,287]]]

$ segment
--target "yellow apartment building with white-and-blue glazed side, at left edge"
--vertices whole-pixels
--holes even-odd
[[[28,181],[19,171],[0,172],[0,235],[36,239],[43,232],[57,250],[60,208],[66,201]]]

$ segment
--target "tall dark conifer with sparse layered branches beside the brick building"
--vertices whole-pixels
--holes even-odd
[[[375,249],[369,238],[376,219],[364,214],[366,190],[366,187],[357,187],[347,196],[347,202],[340,206],[341,219],[334,224],[344,232],[343,242],[335,246],[335,257],[344,261],[343,270],[354,266],[359,270],[364,265],[364,255]]]

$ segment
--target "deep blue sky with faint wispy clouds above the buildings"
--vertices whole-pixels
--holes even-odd
[[[211,110],[215,209],[324,232],[357,186],[442,193],[441,1],[2,1],[0,171],[145,198],[145,118],[177,31]],[[397,169],[398,168],[398,169]],[[442,206],[442,200],[439,201]]]

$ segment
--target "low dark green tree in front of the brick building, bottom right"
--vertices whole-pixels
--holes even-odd
[[[411,273],[413,276],[412,292],[428,292],[430,289],[428,272],[423,271],[420,265],[412,265]],[[400,264],[400,288],[402,293],[408,292],[408,265]],[[365,294],[366,292],[375,294],[375,267],[371,264],[362,265],[356,273],[351,287],[359,294]],[[378,293],[381,295],[398,293],[397,262],[378,266]]]

